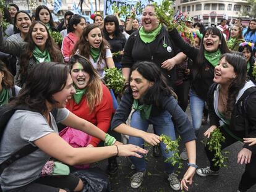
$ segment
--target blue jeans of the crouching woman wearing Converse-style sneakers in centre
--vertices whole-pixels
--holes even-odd
[[[171,120],[171,115],[169,114],[169,112],[165,111],[156,117],[151,117],[148,120],[147,119],[143,120],[140,117],[139,111],[135,111],[134,114],[132,114],[132,117],[130,119],[131,127],[137,128],[142,131],[147,131],[149,124],[153,125],[156,135],[164,134],[164,135],[168,135],[172,140],[176,139],[173,121]],[[144,140],[142,138],[129,136],[129,143],[143,147]],[[166,146],[162,142],[160,143],[160,148],[161,148],[161,152],[164,156],[164,159],[171,157],[173,155],[173,152],[166,153],[164,151],[166,149]],[[146,162],[145,162],[144,157],[142,157],[142,158],[130,157],[130,160],[135,165],[136,170],[138,172],[143,172],[146,170]],[[167,173],[174,172],[175,167],[173,165],[171,165],[170,163],[166,163],[166,162],[164,162],[164,164],[166,166],[165,170]]]

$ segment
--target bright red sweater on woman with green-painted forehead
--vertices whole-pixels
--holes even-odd
[[[101,103],[95,107],[95,110],[90,114],[90,110],[87,106],[87,98],[83,96],[79,104],[76,104],[74,98],[67,102],[66,108],[73,112],[75,115],[82,119],[88,120],[105,133],[108,131],[111,123],[111,117],[114,112],[113,100],[108,88],[101,84],[103,88],[103,98]],[[97,146],[100,143],[100,139],[92,137],[90,144]]]

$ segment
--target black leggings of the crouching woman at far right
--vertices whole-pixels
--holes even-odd
[[[237,140],[230,136],[223,128],[221,128],[222,135],[226,138],[224,143],[221,143],[221,150],[227,148],[229,145],[236,143]],[[211,152],[208,149],[208,146],[205,147],[205,151],[207,153],[208,160],[210,161],[210,169],[217,171],[220,167],[216,167],[214,162],[212,161],[214,157],[214,152]],[[240,191],[247,191],[256,183],[256,155],[252,154],[250,159],[250,164],[245,165],[245,172],[242,174],[241,181],[239,183]]]

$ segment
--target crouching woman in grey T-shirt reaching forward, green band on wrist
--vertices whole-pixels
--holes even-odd
[[[112,156],[141,157],[140,154],[147,152],[131,144],[117,146],[120,143],[112,136],[64,108],[74,93],[68,65],[45,62],[33,68],[19,96],[9,104],[9,107],[22,104],[30,110],[15,111],[7,123],[1,138],[0,162],[26,145],[33,144],[38,148],[3,170],[0,177],[2,191],[82,191],[82,181],[71,173],[57,177],[42,176],[42,167],[50,157],[69,165],[77,165]],[[53,109],[56,115],[52,114]],[[106,142],[108,146],[103,148],[73,148],[58,135],[56,123],[59,122],[102,141],[111,142]]]

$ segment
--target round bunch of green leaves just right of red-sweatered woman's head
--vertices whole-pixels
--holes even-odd
[[[105,81],[106,86],[109,89],[113,89],[115,93],[121,93],[124,88],[124,77],[122,76],[121,70],[116,67],[105,69]]]

